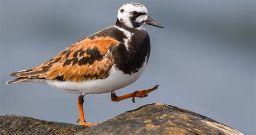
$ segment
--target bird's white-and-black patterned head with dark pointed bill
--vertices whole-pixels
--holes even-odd
[[[116,25],[125,25],[128,28],[144,29],[146,24],[164,28],[164,26],[149,17],[146,7],[142,4],[133,2],[126,3],[118,10]]]

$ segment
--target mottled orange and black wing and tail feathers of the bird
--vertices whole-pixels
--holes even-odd
[[[11,76],[70,82],[103,79],[114,63],[111,52],[117,45],[119,42],[108,36],[85,38],[37,68]]]

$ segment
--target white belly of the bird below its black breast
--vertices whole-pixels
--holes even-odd
[[[116,70],[115,65],[112,66],[109,77],[105,79],[90,80],[86,82],[55,82],[52,80],[44,80],[46,83],[56,89],[71,93],[80,93],[86,95],[88,93],[106,93],[121,89],[127,85],[134,83],[146,68],[146,62],[142,68],[132,75],[124,74],[122,71]],[[34,80],[33,82],[37,82]]]

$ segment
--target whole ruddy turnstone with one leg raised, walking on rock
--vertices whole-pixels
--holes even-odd
[[[57,56],[36,68],[11,73],[18,77],[7,84],[19,82],[46,83],[65,92],[78,93],[80,124],[86,123],[83,97],[86,94],[111,92],[118,102],[135,97],[143,98],[153,90],[140,90],[124,96],[114,91],[135,82],[146,68],[150,56],[150,37],[146,24],[164,28],[147,14],[139,3],[126,3],[118,10],[116,25],[105,28],[72,44]]]

